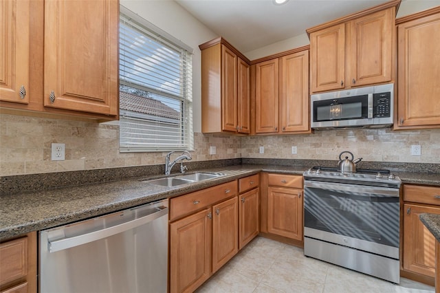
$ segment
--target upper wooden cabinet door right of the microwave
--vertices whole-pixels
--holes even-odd
[[[440,125],[440,13],[398,26],[398,109],[395,127]]]

